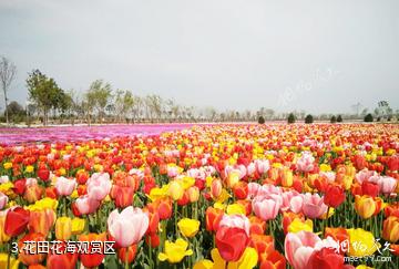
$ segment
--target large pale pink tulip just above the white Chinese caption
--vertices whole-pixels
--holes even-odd
[[[141,208],[126,207],[113,210],[108,218],[108,229],[122,248],[137,244],[149,228],[149,216]]]

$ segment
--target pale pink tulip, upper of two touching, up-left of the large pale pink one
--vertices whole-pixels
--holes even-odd
[[[108,173],[94,173],[86,182],[91,199],[102,200],[111,192],[112,183]]]

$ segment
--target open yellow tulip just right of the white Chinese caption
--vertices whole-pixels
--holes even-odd
[[[170,263],[181,262],[184,257],[193,255],[193,250],[187,250],[187,247],[188,244],[182,238],[178,238],[175,242],[166,240],[165,252],[158,254],[158,259],[161,261],[167,260]]]

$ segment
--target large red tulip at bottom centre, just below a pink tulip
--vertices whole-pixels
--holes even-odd
[[[226,261],[237,261],[249,244],[249,238],[244,229],[236,227],[219,227],[216,232],[216,247]]]

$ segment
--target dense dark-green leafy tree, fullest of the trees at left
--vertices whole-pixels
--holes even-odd
[[[43,112],[43,124],[48,124],[49,111],[59,107],[63,91],[55,81],[47,77],[39,70],[33,70],[27,79],[29,99]]]

